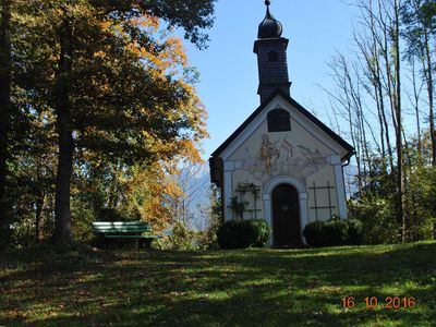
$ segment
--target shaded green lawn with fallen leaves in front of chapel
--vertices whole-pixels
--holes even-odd
[[[0,254],[0,326],[436,326],[436,243]],[[386,308],[385,298],[415,307]],[[341,298],[354,296],[343,308]],[[377,296],[376,310],[363,299]]]

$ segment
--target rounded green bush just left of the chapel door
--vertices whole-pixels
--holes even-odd
[[[269,226],[262,219],[229,220],[218,228],[221,249],[264,247],[268,244]]]

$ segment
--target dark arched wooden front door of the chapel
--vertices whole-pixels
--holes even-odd
[[[280,184],[271,195],[274,245],[301,246],[299,192],[290,184]]]

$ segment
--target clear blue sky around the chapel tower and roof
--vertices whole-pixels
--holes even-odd
[[[342,0],[272,0],[271,14],[288,38],[291,96],[328,124],[328,61],[337,50],[350,51],[358,10]],[[210,154],[261,105],[253,44],[265,17],[264,0],[218,0],[206,50],[185,43],[190,64],[201,74],[198,96],[208,111]]]

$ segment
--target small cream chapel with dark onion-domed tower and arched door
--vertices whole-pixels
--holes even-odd
[[[347,218],[343,166],[354,149],[290,96],[289,40],[265,4],[254,43],[261,106],[211,154],[210,178],[225,220],[264,219],[271,245],[296,247],[308,222]]]

